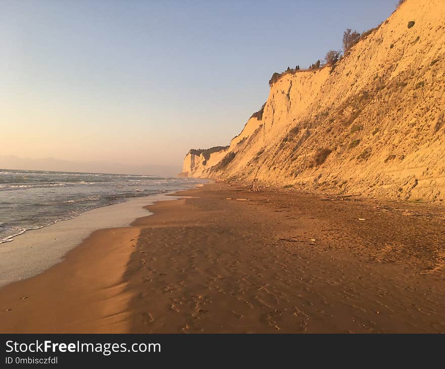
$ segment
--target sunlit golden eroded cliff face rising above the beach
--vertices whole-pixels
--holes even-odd
[[[189,153],[184,172],[387,199],[444,200],[444,19],[443,0],[407,0],[333,71],[281,77],[260,119],[250,118],[227,148],[206,157]]]

